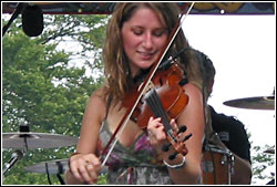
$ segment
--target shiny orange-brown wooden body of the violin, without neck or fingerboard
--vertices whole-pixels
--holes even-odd
[[[184,73],[177,63],[172,64],[166,71],[157,71],[153,76],[146,93],[137,104],[132,118],[137,123],[141,128],[147,127],[147,123],[151,116],[154,116],[153,111],[145,102],[148,91],[154,89],[160,97],[163,110],[167,113],[168,118],[176,118],[188,103],[188,96],[184,93],[184,89],[179,85],[179,82],[184,79]],[[140,86],[136,86],[131,91],[129,97],[123,101],[123,106],[127,106],[133,103],[133,98],[136,96],[136,91]],[[157,117],[157,116],[155,116]]]

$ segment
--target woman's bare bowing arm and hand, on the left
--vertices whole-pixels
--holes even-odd
[[[96,157],[99,131],[105,116],[105,102],[95,91],[86,105],[76,155],[70,157],[70,169],[65,173],[66,184],[93,184],[101,169],[101,162]]]

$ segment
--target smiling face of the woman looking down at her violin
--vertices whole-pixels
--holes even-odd
[[[132,75],[140,69],[150,67],[167,41],[167,30],[150,8],[137,9],[123,23],[123,48],[129,58]]]

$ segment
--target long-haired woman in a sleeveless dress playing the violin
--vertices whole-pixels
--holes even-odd
[[[130,2],[117,3],[106,30],[103,50],[105,84],[95,91],[85,110],[76,154],[70,157],[66,184],[95,184],[102,169],[101,150],[110,141],[126,108],[122,104],[136,81],[158,60],[170,34],[178,20],[175,3]],[[182,31],[168,53],[188,48]],[[204,138],[204,104],[197,66],[189,63],[185,53],[178,58],[188,76],[183,84],[188,96],[186,107],[176,118],[170,120],[174,131],[186,126],[178,137],[185,142],[187,154],[176,153],[168,145],[161,117],[147,120],[145,128],[129,120],[105,166],[109,184],[163,185],[199,184],[202,144]],[[171,155],[175,156],[170,159]]]

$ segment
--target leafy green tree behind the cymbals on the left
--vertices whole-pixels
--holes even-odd
[[[101,19],[106,20],[105,17],[84,20],[78,15],[48,15],[44,17],[43,34],[37,38],[29,38],[22,32],[20,19],[13,23],[2,39],[2,132],[19,132],[19,125],[25,124],[35,133],[79,136],[88,98],[102,82],[101,76],[95,79],[93,74],[85,75],[88,64],[101,71],[101,51],[98,49],[104,32],[100,24],[91,27],[95,21],[101,22]],[[57,24],[54,29],[53,22]],[[90,30],[80,32],[76,28],[81,25],[90,27]],[[92,33],[99,37],[91,37]],[[94,58],[94,61],[86,60],[81,66],[70,65],[79,54],[57,48],[66,37],[81,42],[83,59]],[[96,51],[94,56],[85,56],[85,51],[90,50]],[[74,149],[75,146],[28,150],[7,174],[3,184],[48,184],[44,174],[25,173],[23,168],[41,162],[68,158]],[[11,153],[12,149],[2,153],[2,163],[9,160]],[[55,177],[52,179],[59,184]]]

